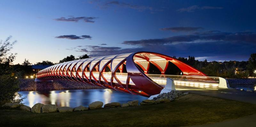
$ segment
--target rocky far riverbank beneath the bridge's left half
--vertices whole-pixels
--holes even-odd
[[[35,79],[20,79],[20,91],[63,89],[101,89],[101,87],[64,80],[55,80],[53,82],[35,82]]]

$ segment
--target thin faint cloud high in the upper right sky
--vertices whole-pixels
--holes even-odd
[[[206,10],[206,9],[223,9],[223,7],[213,7],[213,6],[203,6],[199,7],[198,5],[193,5],[187,8],[180,8],[178,12],[195,12],[196,10]]]

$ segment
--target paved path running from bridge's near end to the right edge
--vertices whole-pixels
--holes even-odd
[[[202,88],[192,88],[192,87],[185,87],[185,86],[175,86],[175,87],[176,87],[176,90],[187,91],[190,93],[256,104],[256,92],[247,92],[247,91],[239,91],[236,89],[221,89],[221,88],[202,89]]]

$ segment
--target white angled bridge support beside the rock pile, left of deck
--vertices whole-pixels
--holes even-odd
[[[161,94],[161,93],[168,93],[170,91],[175,91],[175,90],[176,89],[175,89],[174,81],[171,78],[167,78],[166,79],[166,85],[165,85],[164,89],[159,94]],[[152,95],[148,99],[152,100],[154,97],[157,97],[159,94]]]

